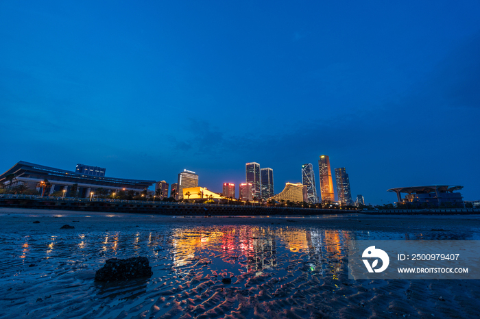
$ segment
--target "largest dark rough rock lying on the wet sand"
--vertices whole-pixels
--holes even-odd
[[[105,261],[105,266],[95,273],[95,281],[111,281],[150,277],[153,275],[147,257],[128,259],[112,258]]]

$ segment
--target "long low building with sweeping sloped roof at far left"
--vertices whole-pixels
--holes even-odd
[[[97,188],[103,188],[110,194],[119,190],[125,192],[132,190],[139,193],[155,183],[155,181],[139,179],[93,176],[22,161],[0,175],[0,183],[6,188],[25,185],[32,190],[36,189],[40,193],[43,192],[45,187],[43,186],[45,179],[50,183],[48,194],[64,190],[66,197],[76,196],[80,198],[90,196],[91,192],[95,192]],[[75,184],[77,194],[71,194],[71,187]]]

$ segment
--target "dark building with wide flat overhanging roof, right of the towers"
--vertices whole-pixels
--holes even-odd
[[[391,188],[388,192],[397,195],[397,205],[414,205],[416,207],[459,207],[464,208],[464,199],[459,192],[464,186],[416,186]],[[407,194],[402,199],[401,193]]]

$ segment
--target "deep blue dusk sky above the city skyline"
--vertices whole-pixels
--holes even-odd
[[[480,199],[480,2],[387,2],[1,1],[1,173],[187,168],[238,196],[245,162],[278,193],[328,155],[366,203]]]

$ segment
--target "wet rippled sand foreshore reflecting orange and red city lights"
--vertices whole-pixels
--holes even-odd
[[[60,230],[65,224],[75,229]],[[347,272],[349,240],[480,240],[479,216],[172,218],[0,208],[0,225],[1,318],[480,316],[477,280],[353,281]],[[149,258],[151,278],[93,281],[106,259],[139,255]]]

